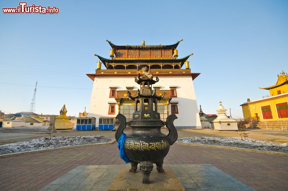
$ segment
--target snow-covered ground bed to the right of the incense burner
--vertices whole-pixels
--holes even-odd
[[[243,140],[241,140],[240,137],[184,137],[184,138],[178,138],[177,141],[179,141],[180,143],[221,145],[228,147],[288,153],[287,143],[277,144],[266,141],[259,141],[251,138],[243,138]]]

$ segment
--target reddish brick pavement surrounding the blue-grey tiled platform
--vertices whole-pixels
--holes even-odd
[[[288,190],[288,157],[174,144],[165,164],[213,164],[256,190]],[[79,165],[124,164],[117,143],[1,158],[0,190],[40,190]]]

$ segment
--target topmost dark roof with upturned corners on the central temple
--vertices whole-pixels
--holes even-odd
[[[170,44],[170,45],[115,45],[109,40],[106,40],[111,48],[114,48],[115,50],[149,50],[149,49],[174,49],[177,48],[179,42],[181,42],[183,39],[177,41],[175,44]]]

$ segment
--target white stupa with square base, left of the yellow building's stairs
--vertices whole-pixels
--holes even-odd
[[[220,101],[220,106],[217,111],[217,118],[214,119],[213,125],[216,130],[238,130],[237,121],[230,119],[226,115],[227,109],[225,109]],[[213,128],[213,127],[212,127]]]

